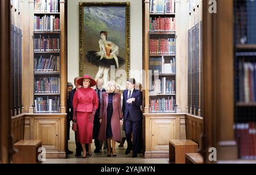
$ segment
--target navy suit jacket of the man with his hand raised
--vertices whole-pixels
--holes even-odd
[[[133,122],[138,122],[143,119],[141,106],[143,101],[143,94],[140,90],[134,90],[133,94],[131,95],[131,98],[135,98],[135,102],[128,104],[127,98],[128,98],[128,92],[129,90],[123,91],[123,118],[126,121],[128,113],[130,113],[131,120]]]

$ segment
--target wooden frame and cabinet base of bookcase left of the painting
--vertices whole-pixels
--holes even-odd
[[[58,12],[35,12],[36,1],[23,1],[23,7],[28,12],[24,14],[24,18],[30,19],[29,25],[27,21],[23,22],[23,28],[26,30],[24,32],[24,48],[23,48],[23,102],[24,102],[24,113],[26,115],[24,118],[24,139],[26,140],[42,140],[42,145],[46,148],[47,159],[65,159],[65,138],[66,138],[66,101],[67,101],[67,51],[66,51],[66,32],[65,27],[65,10],[67,1],[59,1]],[[55,18],[59,18],[60,31],[35,31],[35,18],[34,16],[44,15],[55,15]],[[60,51],[35,51],[35,38],[42,36],[48,36],[48,38],[59,38],[59,49]],[[49,48],[49,49],[57,49]],[[29,53],[29,56],[28,56]],[[51,59],[53,57],[59,57],[59,62],[57,68],[52,65],[54,70],[49,69],[49,66],[42,66],[42,70],[37,70],[35,64],[42,56],[43,58]],[[57,58],[56,58],[57,60]],[[48,62],[50,62],[48,60]],[[43,71],[44,70],[44,71]],[[60,88],[57,91],[52,91],[53,93],[36,93],[35,83],[38,78],[59,78],[57,86]],[[44,91],[44,90],[43,90]],[[49,90],[45,90],[48,91]],[[54,93],[58,92],[58,93]],[[57,98],[60,104],[55,109],[44,110],[40,109],[36,112],[35,100],[37,98],[43,98],[45,100],[51,99],[55,100]],[[54,98],[54,99],[53,99]],[[53,101],[52,101],[53,103]],[[56,103],[57,104],[57,103]],[[42,132],[42,131],[43,132]],[[39,132],[40,131],[40,132]],[[47,135],[46,135],[47,132]],[[49,141],[50,140],[50,141]]]

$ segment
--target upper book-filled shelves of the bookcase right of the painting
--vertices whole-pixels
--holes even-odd
[[[152,75],[151,75],[152,85],[149,85],[151,86],[149,87],[149,89],[154,88],[156,90],[156,83],[157,84],[160,83],[160,85],[157,85],[160,88],[162,88],[160,91],[166,91],[166,90],[169,91],[169,89],[171,88],[170,90],[176,92],[176,61],[177,59],[176,59],[175,12],[172,12],[172,13],[157,12],[157,11],[175,11],[175,2],[172,2],[172,0],[166,2],[166,4],[172,3],[174,7],[171,7],[171,6],[168,7],[167,5],[163,6],[160,4],[158,6],[154,6],[151,4],[153,2],[154,2],[154,5],[155,3],[158,3],[157,1],[148,1],[148,3],[145,3],[145,16],[144,16],[145,18],[144,33],[149,34],[147,38],[148,41],[145,42],[145,44],[148,45],[148,50],[145,50],[145,52],[149,53],[144,58],[146,65],[148,65],[148,67],[145,69],[152,70]],[[146,11],[147,9],[148,11]],[[153,11],[155,11],[155,13]],[[148,24],[150,22],[151,24]],[[155,40],[158,40],[158,43],[156,43]],[[159,45],[156,46],[156,44],[159,44]],[[154,53],[158,53],[158,54],[154,54]],[[165,70],[165,69],[168,69],[168,70]],[[159,72],[156,73],[155,70],[158,70]],[[163,73],[163,72],[168,72],[168,73]],[[159,76],[158,82],[155,81],[154,76]],[[147,89],[146,91],[148,91],[149,89]],[[146,95],[145,112],[150,113],[150,110],[153,109],[153,106],[150,105],[151,102],[155,104],[154,106],[158,106],[158,103],[159,104],[161,103],[162,105],[160,105],[159,107],[163,107],[164,109],[167,107],[167,111],[175,111],[175,107],[176,107],[175,93],[171,93],[171,94],[147,93],[147,94],[148,95]],[[171,105],[167,105],[168,103],[170,103],[169,100],[168,102],[165,100],[162,101],[162,99],[166,99],[166,98],[168,99],[168,97],[172,99]],[[168,109],[170,107],[171,109]],[[157,111],[160,111],[160,110],[157,110]]]

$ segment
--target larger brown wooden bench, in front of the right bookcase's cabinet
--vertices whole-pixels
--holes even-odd
[[[170,163],[185,164],[185,153],[196,153],[198,144],[192,140],[170,140]]]

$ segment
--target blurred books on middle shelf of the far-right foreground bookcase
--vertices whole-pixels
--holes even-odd
[[[239,63],[240,102],[256,102],[256,63]]]

